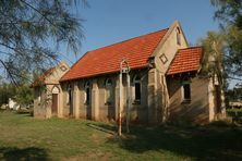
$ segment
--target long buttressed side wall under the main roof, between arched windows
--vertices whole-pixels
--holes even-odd
[[[147,76],[148,70],[131,71],[131,121],[132,122],[147,122]],[[135,87],[134,77],[138,75],[141,77],[141,102],[134,100]],[[107,102],[107,87],[106,81],[111,79],[111,95],[110,101]],[[89,83],[90,102],[85,102],[85,84]],[[125,116],[126,108],[126,76],[123,74],[123,87],[122,87],[122,115]],[[68,87],[72,86],[72,92],[74,94],[71,102],[66,103],[69,98]],[[63,103],[63,116],[70,116],[70,106],[73,106],[73,116],[82,119],[90,119],[96,121],[117,121],[119,109],[119,74],[102,75],[93,78],[85,78],[73,81],[70,83],[62,83],[63,89],[62,103]]]

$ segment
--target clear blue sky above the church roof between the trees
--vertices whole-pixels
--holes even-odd
[[[86,51],[169,27],[178,20],[191,45],[208,30],[217,30],[215,9],[209,0],[88,0],[90,8],[77,8],[85,39],[76,57],[60,52],[76,62]],[[68,63],[72,65],[70,61]]]

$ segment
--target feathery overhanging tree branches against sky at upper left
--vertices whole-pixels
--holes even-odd
[[[82,0],[87,5],[85,0]],[[0,64],[14,83],[26,73],[51,65],[60,45],[75,53],[83,38],[75,0],[1,0]]]

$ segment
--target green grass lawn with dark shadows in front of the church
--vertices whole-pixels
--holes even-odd
[[[0,112],[0,160],[242,160],[242,127],[132,126]]]

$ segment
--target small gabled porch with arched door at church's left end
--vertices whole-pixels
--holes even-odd
[[[51,117],[60,112],[58,107],[62,103],[60,94],[60,78],[70,70],[65,62],[47,70],[32,84],[34,88],[34,116]]]

